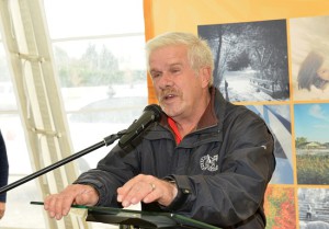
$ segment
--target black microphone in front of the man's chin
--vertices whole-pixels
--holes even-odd
[[[148,105],[144,108],[141,116],[135,119],[118,140],[120,147],[127,146],[134,138],[144,131],[151,123],[158,122],[161,116],[161,107],[157,104]]]

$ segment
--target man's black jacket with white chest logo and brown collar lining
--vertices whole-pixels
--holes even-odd
[[[179,145],[162,114],[131,147],[115,146],[76,183],[93,185],[99,205],[121,207],[116,188],[133,176],[172,179],[180,191],[173,203],[143,205],[144,210],[173,211],[223,228],[265,228],[263,198],[275,168],[273,137],[257,114],[211,91],[196,130]]]

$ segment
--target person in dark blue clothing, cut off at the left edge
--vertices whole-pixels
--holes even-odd
[[[8,184],[9,164],[3,137],[0,130],[0,187]],[[0,194],[0,202],[5,203],[5,193]]]

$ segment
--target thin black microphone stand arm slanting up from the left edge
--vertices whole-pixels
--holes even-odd
[[[32,179],[35,179],[35,178],[37,178],[39,175],[43,175],[43,174],[45,174],[45,173],[47,173],[47,172],[49,172],[52,170],[55,170],[58,167],[61,167],[61,165],[64,165],[64,164],[66,164],[66,163],[68,163],[70,161],[72,161],[72,160],[75,160],[77,158],[80,158],[80,157],[82,157],[82,156],[84,156],[84,154],[87,154],[87,153],[89,153],[89,152],[91,152],[93,150],[97,150],[97,149],[99,149],[99,148],[101,148],[103,146],[110,146],[115,140],[117,140],[118,138],[121,138],[124,134],[125,134],[125,130],[118,131],[115,135],[110,135],[110,136],[105,137],[102,141],[100,141],[100,142],[98,142],[95,145],[92,145],[92,146],[90,146],[90,147],[88,147],[88,148],[86,148],[86,149],[83,149],[83,150],[81,150],[81,151],[79,151],[79,152],[77,152],[75,154],[71,154],[71,156],[69,156],[69,157],[67,157],[67,158],[65,158],[65,159],[63,159],[60,161],[57,161],[54,164],[50,164],[50,165],[48,165],[48,167],[46,167],[46,168],[44,168],[44,169],[42,169],[42,170],[39,170],[39,171],[37,171],[35,173],[32,173],[32,174],[30,174],[30,175],[27,175],[27,176],[25,176],[25,178],[23,178],[21,180],[18,180],[18,181],[15,181],[15,182],[13,182],[13,183],[11,183],[9,185],[5,185],[5,186],[3,186],[3,187],[0,188],[0,194],[5,193],[5,192],[8,192],[8,191],[10,191],[10,190],[12,190],[12,188],[21,185],[21,184],[26,183],[27,181],[31,181]]]

